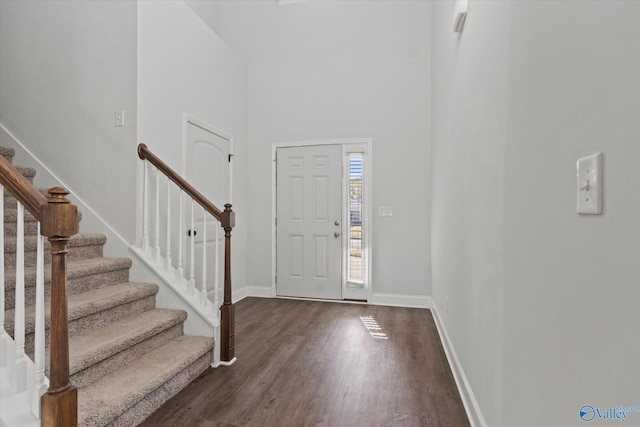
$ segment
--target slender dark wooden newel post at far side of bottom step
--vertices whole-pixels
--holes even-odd
[[[224,301],[220,307],[220,359],[231,362],[236,351],[235,306],[231,302],[231,230],[235,227],[235,213],[230,204],[222,212],[224,228]]]

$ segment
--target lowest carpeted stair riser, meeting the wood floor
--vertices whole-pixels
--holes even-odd
[[[117,419],[107,424],[108,427],[133,427],[137,426],[152,413],[157,411],[165,402],[178,394],[189,383],[198,378],[211,364],[211,355],[203,355],[182,372],[145,396],[140,402],[129,408]],[[85,425],[82,416],[78,420],[80,425]]]

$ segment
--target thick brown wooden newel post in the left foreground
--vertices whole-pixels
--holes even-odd
[[[67,200],[67,190],[55,187],[41,208],[41,234],[51,243],[51,326],[49,389],[41,400],[41,425],[76,427],[78,390],[69,382],[67,325],[67,242],[78,233],[78,208]]]

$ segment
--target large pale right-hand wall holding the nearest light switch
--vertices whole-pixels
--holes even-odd
[[[433,296],[488,426],[640,402],[638,16],[469,2],[458,36],[434,4]],[[598,151],[604,215],[579,216],[575,163]]]

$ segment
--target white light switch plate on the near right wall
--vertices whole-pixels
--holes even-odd
[[[578,160],[578,213],[602,214],[602,153]]]

